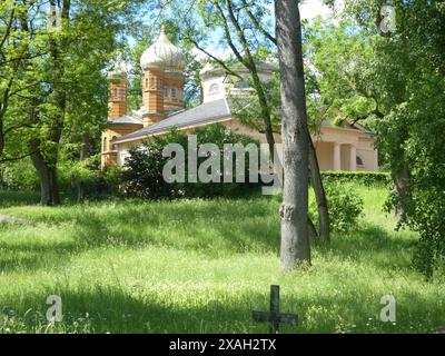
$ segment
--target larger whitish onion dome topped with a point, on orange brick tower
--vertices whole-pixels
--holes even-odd
[[[140,58],[144,70],[164,69],[166,71],[184,72],[186,61],[182,51],[168,39],[162,26],[159,38]]]

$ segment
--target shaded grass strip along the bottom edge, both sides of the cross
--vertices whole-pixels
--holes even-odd
[[[267,333],[266,324],[256,324],[251,319],[253,310],[268,309],[268,290],[264,294],[246,290],[202,298],[188,296],[176,300],[170,294],[159,295],[155,289],[126,291],[118,287],[101,285],[85,286],[88,289],[56,289],[41,295],[27,295],[18,298],[3,298],[1,309],[13,309],[17,317],[8,325],[12,332],[41,333],[47,324],[43,316],[48,306],[46,298],[58,295],[62,300],[63,323],[58,324],[55,333]],[[198,290],[197,290],[198,293]],[[378,291],[365,288],[359,296],[327,295],[298,296],[286,294],[281,310],[296,313],[299,324],[296,327],[283,327],[284,333],[412,333],[428,332],[444,322],[439,310],[434,309],[434,318],[428,319],[425,310],[432,306],[428,298],[411,303],[403,298],[399,306],[404,310],[397,326],[380,323],[377,318],[382,306]],[[19,301],[18,301],[19,300]],[[437,305],[434,306],[437,308]],[[26,314],[27,310],[33,314]],[[36,313],[37,312],[37,313]],[[1,313],[0,313],[1,314]],[[36,315],[40,318],[36,319]],[[369,322],[373,317],[373,322]],[[412,326],[416,329],[411,329]],[[422,326],[424,325],[424,326]]]

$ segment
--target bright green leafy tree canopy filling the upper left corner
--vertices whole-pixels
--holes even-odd
[[[58,202],[59,159],[100,137],[106,72],[141,2],[55,1],[52,27],[48,1],[0,4],[0,162],[32,155],[51,176],[46,204]]]

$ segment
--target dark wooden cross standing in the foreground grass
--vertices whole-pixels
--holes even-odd
[[[269,323],[269,333],[278,334],[280,324],[297,325],[295,314],[279,314],[279,286],[270,287],[270,312],[254,312],[253,317],[258,323]]]

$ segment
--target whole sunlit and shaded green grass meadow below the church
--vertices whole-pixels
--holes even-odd
[[[271,284],[281,312],[299,315],[283,333],[444,330],[444,280],[412,268],[418,237],[395,231],[385,188],[355,188],[359,224],[290,274],[274,197],[42,208],[34,194],[0,191],[0,215],[21,219],[0,222],[0,333],[267,333],[251,310],[268,309]],[[396,323],[379,320],[389,294]],[[62,323],[46,322],[50,295]]]

